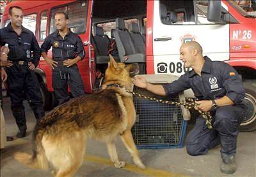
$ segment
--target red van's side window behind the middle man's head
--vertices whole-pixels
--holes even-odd
[[[57,12],[65,12],[68,15],[68,27],[76,34],[83,34],[86,31],[88,2],[76,1],[76,3],[65,4],[53,8],[50,15],[50,30],[49,34],[56,31],[55,14]]]

